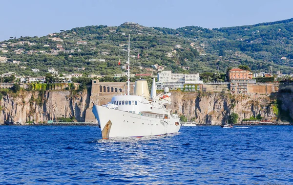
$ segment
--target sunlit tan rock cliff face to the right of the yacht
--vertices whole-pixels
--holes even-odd
[[[228,122],[229,115],[236,113],[240,122],[243,118],[260,115],[273,118],[272,100],[269,96],[250,97],[224,93],[172,92],[170,108],[188,120],[193,118],[200,124],[219,125]]]

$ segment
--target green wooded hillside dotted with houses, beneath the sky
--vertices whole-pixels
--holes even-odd
[[[292,25],[293,19],[215,29],[123,23],[77,27],[43,37],[10,38],[0,42],[0,73],[39,76],[49,67],[59,73],[121,73],[125,69],[118,66],[118,60],[126,60],[126,52],[120,49],[127,48],[130,34],[131,49],[138,49],[131,53],[133,73],[156,73],[151,66],[158,64],[173,72],[226,72],[228,67],[248,65],[254,71],[269,71],[272,66],[273,72],[288,74],[293,72]]]

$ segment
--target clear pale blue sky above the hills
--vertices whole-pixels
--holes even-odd
[[[207,28],[293,18],[292,0],[0,0],[0,41],[86,25]]]

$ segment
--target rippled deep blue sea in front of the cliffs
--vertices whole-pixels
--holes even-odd
[[[293,126],[109,140],[97,126],[0,126],[0,184],[289,185]]]

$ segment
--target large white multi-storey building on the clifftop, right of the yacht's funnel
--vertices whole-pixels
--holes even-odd
[[[199,91],[200,87],[197,84],[203,84],[200,80],[199,73],[197,74],[182,74],[173,73],[170,70],[165,70],[158,73],[158,82],[156,83],[157,90],[164,90],[168,87],[171,90],[177,90],[178,88],[182,91],[185,85],[194,86],[194,91]],[[195,87],[197,87],[195,89]]]

